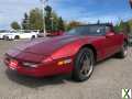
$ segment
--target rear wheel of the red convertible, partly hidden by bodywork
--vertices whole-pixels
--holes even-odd
[[[121,51],[117,54],[119,58],[125,58],[128,56],[128,42],[124,41]]]

